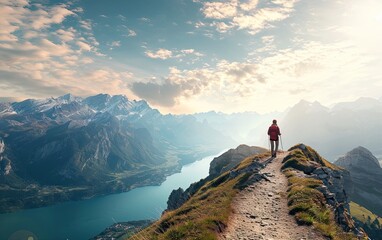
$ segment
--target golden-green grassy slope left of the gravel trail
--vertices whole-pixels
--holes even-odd
[[[256,155],[244,159],[236,169],[247,167]],[[241,174],[233,179],[229,173],[207,182],[179,209],[165,213],[157,222],[130,239],[217,239],[228,224],[231,202],[239,191],[238,186],[248,177]],[[125,238],[127,239],[127,238]]]

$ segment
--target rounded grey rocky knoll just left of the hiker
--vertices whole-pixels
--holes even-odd
[[[244,158],[254,154],[265,153],[267,150],[260,147],[250,147],[240,145],[236,149],[230,149],[219,157],[212,160],[210,165],[210,175],[218,176],[223,172],[229,171],[240,163]]]

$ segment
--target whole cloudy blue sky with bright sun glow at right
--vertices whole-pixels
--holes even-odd
[[[124,94],[163,113],[382,97],[380,0],[0,0],[0,101]]]

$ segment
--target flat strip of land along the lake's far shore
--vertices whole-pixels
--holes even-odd
[[[40,186],[38,184],[30,184],[25,189],[1,189],[0,193],[4,197],[0,199],[0,215],[28,209],[44,208],[66,202],[84,201],[111,194],[126,193],[141,187],[160,186],[166,181],[168,176],[179,173],[184,166],[198,161],[203,156],[216,152],[214,150],[198,152],[194,153],[192,158],[190,156],[183,156],[176,165],[171,165],[167,168],[151,169],[126,178],[126,183],[123,187],[112,184],[97,186],[97,188],[87,185]]]

